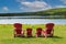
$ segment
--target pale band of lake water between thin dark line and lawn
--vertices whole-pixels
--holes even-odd
[[[66,24],[66,19],[0,19],[0,24],[45,24],[51,22],[55,24]]]

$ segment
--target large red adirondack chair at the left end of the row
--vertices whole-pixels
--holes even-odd
[[[14,37],[16,36],[24,36],[24,32],[22,30],[22,24],[20,23],[14,23]]]

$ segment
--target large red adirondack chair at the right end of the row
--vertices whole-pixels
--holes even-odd
[[[46,26],[46,30],[43,31],[44,36],[45,37],[53,36],[53,34],[54,34],[54,23],[47,23],[45,26]]]

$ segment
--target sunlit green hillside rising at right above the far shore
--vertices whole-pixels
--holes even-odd
[[[36,12],[36,14],[43,14],[43,15],[48,15],[48,14],[58,15],[61,13],[66,15],[66,8],[50,9],[50,10]]]

